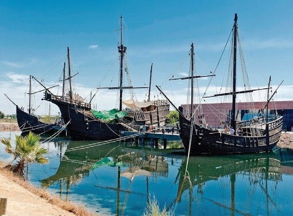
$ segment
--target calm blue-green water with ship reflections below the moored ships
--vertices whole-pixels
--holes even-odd
[[[44,144],[49,164],[30,165],[28,180],[102,215],[142,215],[148,197],[175,215],[293,215],[292,150],[190,157],[189,181],[185,156],[141,150],[132,143],[76,149],[91,143]],[[12,159],[3,145],[0,158]]]

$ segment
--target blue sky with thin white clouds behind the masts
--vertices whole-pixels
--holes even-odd
[[[197,72],[214,71],[237,13],[251,86],[266,85],[269,75],[274,85],[284,79],[277,100],[290,100],[292,12],[291,1],[1,1],[0,110],[15,113],[3,93],[20,106],[27,104],[24,93],[30,74],[46,85],[56,83],[67,46],[73,70],[79,72],[75,82],[82,96],[88,98],[98,84],[116,86],[119,35],[115,30],[121,14],[127,26],[124,45],[134,86],[148,85],[153,63],[152,83],[161,85],[176,105],[184,103],[187,82],[168,79],[188,73],[188,60],[187,66],[180,64],[191,42],[196,48]],[[220,67],[214,87],[221,85],[224,72],[224,66]],[[207,82],[201,81],[200,86],[204,89]],[[143,100],[145,93],[138,91],[138,99]],[[115,107],[116,94],[100,91],[94,101],[97,109]],[[42,94],[35,97],[37,105]],[[42,103],[41,114],[48,107]],[[56,107],[53,110],[57,112]]]

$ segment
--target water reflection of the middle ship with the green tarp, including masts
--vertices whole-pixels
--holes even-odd
[[[82,146],[87,143],[82,142]],[[64,152],[59,145],[60,152]],[[120,212],[124,212],[128,196],[131,193],[144,196],[146,199],[149,197],[148,190],[148,178],[149,176],[159,177],[168,175],[168,162],[162,155],[149,155],[145,152],[131,152],[130,149],[124,148],[118,143],[105,144],[103,146],[95,146],[92,148],[79,149],[78,151],[72,151],[74,148],[78,148],[80,142],[71,141],[62,156],[60,153],[60,165],[56,173],[41,181],[42,187],[49,187],[57,183],[59,184],[60,198],[65,193],[65,200],[68,199],[69,189],[71,185],[78,184],[84,177],[89,175],[89,172],[100,166],[109,165],[116,166],[114,171],[117,173],[117,186],[99,185],[94,186],[117,191],[117,215]],[[121,167],[126,167],[122,169]],[[131,189],[121,188],[121,177],[127,177],[132,180],[138,176],[143,175],[146,177],[146,192],[136,192]],[[124,202],[120,200],[120,194],[125,193]],[[122,206],[122,207],[121,207]]]

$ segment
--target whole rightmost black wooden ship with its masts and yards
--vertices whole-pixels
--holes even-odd
[[[272,150],[280,139],[282,128],[282,116],[268,115],[268,103],[273,95],[269,98],[270,80],[268,88],[250,89],[249,83],[244,86],[244,91],[236,91],[236,54],[237,54],[237,41],[238,41],[238,27],[237,27],[237,14],[235,14],[234,25],[232,29],[232,53],[233,71],[231,71],[230,80],[232,79],[233,90],[232,92],[225,92],[216,94],[214,96],[205,96],[203,98],[215,96],[232,96],[232,110],[227,108],[226,119],[220,121],[219,128],[211,128],[206,124],[205,116],[202,113],[201,106],[194,107],[193,104],[193,79],[201,78],[204,76],[194,76],[193,74],[193,43],[190,49],[191,58],[191,76],[177,79],[191,80],[191,103],[190,103],[190,116],[185,116],[182,107],[179,107],[179,123],[180,123],[180,137],[185,148],[187,155],[214,155],[214,154],[241,154],[241,153],[257,153],[267,152]],[[242,52],[240,52],[242,54]],[[243,60],[241,56],[240,60]],[[243,72],[243,71],[242,71]],[[245,72],[246,73],[246,72]],[[209,76],[215,76],[209,75]],[[248,81],[247,74],[244,75]],[[159,89],[159,87],[157,87]],[[228,88],[226,88],[227,91]],[[238,94],[249,94],[247,98],[252,99],[250,94],[256,90],[267,89],[267,103],[266,106],[259,112],[258,117],[252,118],[247,121],[237,121],[236,118],[236,96]],[[159,89],[160,90],[160,89]],[[161,90],[160,90],[161,91]],[[165,96],[166,97],[166,96]],[[247,102],[249,103],[249,102]],[[176,108],[176,107],[175,107]],[[266,114],[264,110],[266,109]],[[222,127],[222,128],[221,128]],[[226,128],[226,129],[225,129]],[[225,131],[233,129],[230,132]]]

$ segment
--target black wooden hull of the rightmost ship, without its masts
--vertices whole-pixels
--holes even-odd
[[[179,115],[180,137],[188,154],[191,121]],[[211,130],[194,123],[189,155],[242,154],[271,151],[281,136],[282,117],[266,123],[261,136],[240,136]]]

